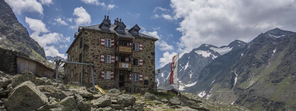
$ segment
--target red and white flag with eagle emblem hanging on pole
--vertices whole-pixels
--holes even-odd
[[[174,86],[178,86],[178,60],[179,60],[179,54],[175,55],[173,57],[173,60],[171,62],[171,75],[170,75],[170,84],[173,84]]]

